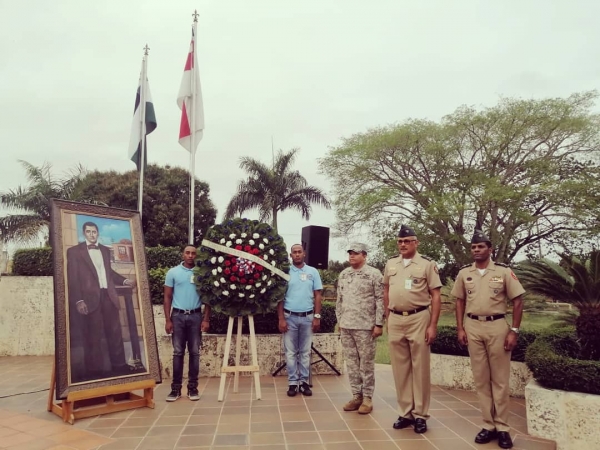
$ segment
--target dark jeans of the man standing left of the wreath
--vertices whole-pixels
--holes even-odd
[[[190,354],[190,364],[188,373],[188,389],[198,387],[198,374],[200,373],[200,345],[202,345],[202,314],[196,312],[193,314],[184,314],[179,311],[173,311],[171,314],[173,321],[173,382],[171,389],[181,390],[183,383],[183,356],[187,345]]]

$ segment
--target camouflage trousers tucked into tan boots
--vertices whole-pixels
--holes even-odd
[[[340,334],[352,394],[373,397],[376,345],[372,331],[342,328]]]

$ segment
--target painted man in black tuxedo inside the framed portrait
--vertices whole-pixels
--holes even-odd
[[[85,363],[83,379],[73,381],[127,375],[130,368],[125,360],[115,286],[133,287],[135,282],[111,268],[110,249],[98,244],[98,225],[86,222],[82,229],[85,241],[67,250],[70,318],[78,323],[81,330]],[[102,338],[108,347],[110,371],[104,367]],[[71,348],[73,344],[71,341]]]

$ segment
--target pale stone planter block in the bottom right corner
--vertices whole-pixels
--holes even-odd
[[[600,449],[600,395],[546,389],[531,380],[525,399],[530,435],[556,441],[557,450]]]

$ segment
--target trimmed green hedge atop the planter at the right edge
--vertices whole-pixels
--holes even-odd
[[[546,388],[600,395],[600,362],[576,359],[580,351],[573,328],[546,330],[527,349],[525,362]]]

